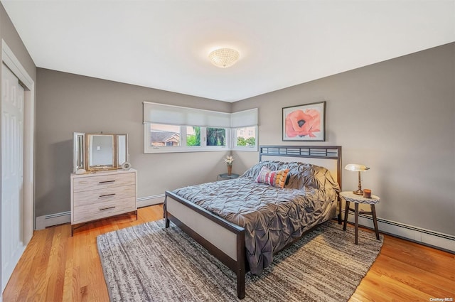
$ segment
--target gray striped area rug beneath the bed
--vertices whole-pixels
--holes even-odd
[[[348,301],[375,261],[383,237],[326,222],[247,274],[242,301]],[[111,301],[239,301],[235,274],[164,220],[97,237]]]

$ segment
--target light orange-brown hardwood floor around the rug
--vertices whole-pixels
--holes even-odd
[[[161,219],[161,205],[139,209],[139,218],[114,217],[75,230],[70,225],[36,231],[3,293],[10,301],[109,301],[96,237]],[[373,236],[373,234],[372,234]],[[454,254],[385,236],[378,259],[350,301],[455,299]]]

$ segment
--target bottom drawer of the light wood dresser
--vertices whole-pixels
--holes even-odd
[[[72,224],[74,225],[81,222],[122,214],[125,212],[132,212],[136,209],[135,197],[124,198],[120,200],[117,199],[103,201],[100,203],[91,203],[84,206],[75,206]]]

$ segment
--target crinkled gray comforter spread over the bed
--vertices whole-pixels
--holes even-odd
[[[289,168],[285,188],[255,183],[262,166],[272,171]],[[179,188],[174,193],[244,227],[250,271],[260,274],[275,252],[335,215],[339,191],[326,168],[264,161],[237,179]]]

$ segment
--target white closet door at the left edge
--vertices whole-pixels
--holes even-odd
[[[1,66],[1,290],[24,249],[23,225],[23,87]]]

